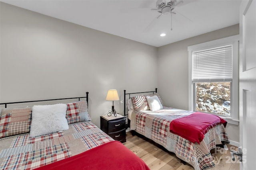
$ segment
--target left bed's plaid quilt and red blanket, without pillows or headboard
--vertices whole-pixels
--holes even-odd
[[[38,137],[24,134],[0,139],[1,170],[35,168],[149,170],[136,154],[119,141],[114,141],[91,121],[74,123],[66,131]]]

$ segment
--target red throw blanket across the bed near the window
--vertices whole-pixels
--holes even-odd
[[[179,135],[192,143],[199,143],[204,139],[208,130],[220,123],[226,127],[227,121],[207,113],[195,112],[191,115],[174,119],[170,123],[170,132]]]

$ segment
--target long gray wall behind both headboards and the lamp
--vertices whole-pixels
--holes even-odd
[[[154,90],[157,48],[0,4],[0,102],[85,96],[92,122],[111,109],[123,114],[123,90]],[[103,25],[104,26],[104,25]],[[26,106],[29,104],[26,104]]]

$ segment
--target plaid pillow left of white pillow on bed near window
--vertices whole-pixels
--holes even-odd
[[[134,96],[131,98],[131,100],[132,100],[132,105],[134,110],[136,111],[149,110],[146,96]]]

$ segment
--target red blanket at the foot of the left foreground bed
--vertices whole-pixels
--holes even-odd
[[[36,170],[150,170],[119,141],[111,141]]]

